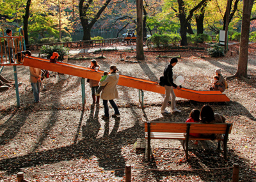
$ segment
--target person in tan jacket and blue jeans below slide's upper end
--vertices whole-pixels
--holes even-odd
[[[35,103],[40,102],[39,93],[40,93],[40,83],[41,83],[41,69],[29,67],[31,86],[33,89],[33,94],[35,98]]]

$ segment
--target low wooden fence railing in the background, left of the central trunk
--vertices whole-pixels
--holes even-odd
[[[102,39],[102,40],[81,40],[81,41],[74,41],[74,42],[56,42],[56,43],[38,43],[38,44],[31,44],[26,45],[27,49],[29,50],[39,50],[42,45],[63,45],[65,47],[70,48],[84,48],[84,47],[95,47],[95,46],[106,46],[106,45],[113,45],[116,43],[124,42],[124,38],[109,38],[109,39]]]

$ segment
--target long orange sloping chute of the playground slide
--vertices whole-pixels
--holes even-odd
[[[44,70],[50,70],[52,72],[65,73],[67,75],[74,75],[77,77],[83,77],[93,80],[100,80],[103,71],[95,72],[95,70],[86,68],[70,63],[49,63],[48,59],[40,57],[25,57],[24,66],[31,66],[35,68],[41,68]],[[129,77],[120,75],[118,85],[133,87],[136,89],[142,89],[144,91],[152,91],[155,93],[164,94],[164,87],[159,86],[157,82],[153,82],[145,79],[138,79],[135,77]],[[174,93],[177,97],[186,98],[188,100],[195,100],[197,102],[228,102],[229,98],[220,91],[195,91],[193,89],[174,89]]]

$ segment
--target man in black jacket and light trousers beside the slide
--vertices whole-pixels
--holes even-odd
[[[170,112],[166,110],[167,104],[170,100],[170,96],[171,96],[172,112],[181,112],[181,110],[176,108],[176,103],[175,103],[176,96],[173,91],[173,87],[180,89],[180,86],[177,86],[175,83],[173,83],[173,78],[172,78],[173,77],[172,68],[177,64],[177,62],[178,62],[178,59],[176,57],[173,57],[170,61],[170,64],[168,64],[168,66],[166,66],[166,68],[164,69],[165,97],[164,97],[163,105],[161,107],[161,113],[170,114]]]

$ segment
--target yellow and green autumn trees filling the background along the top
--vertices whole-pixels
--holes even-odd
[[[148,0],[143,1],[143,37],[147,34],[180,34],[181,45],[187,45],[187,34],[216,35],[225,30],[228,13],[230,38],[240,37],[243,1]],[[83,31],[82,40],[91,40],[93,30],[136,29],[136,1],[118,0],[6,0],[0,1],[3,29],[17,32],[23,26],[26,44],[54,37],[70,40]],[[250,40],[256,40],[256,6],[251,13]],[[67,39],[69,38],[69,39]]]

